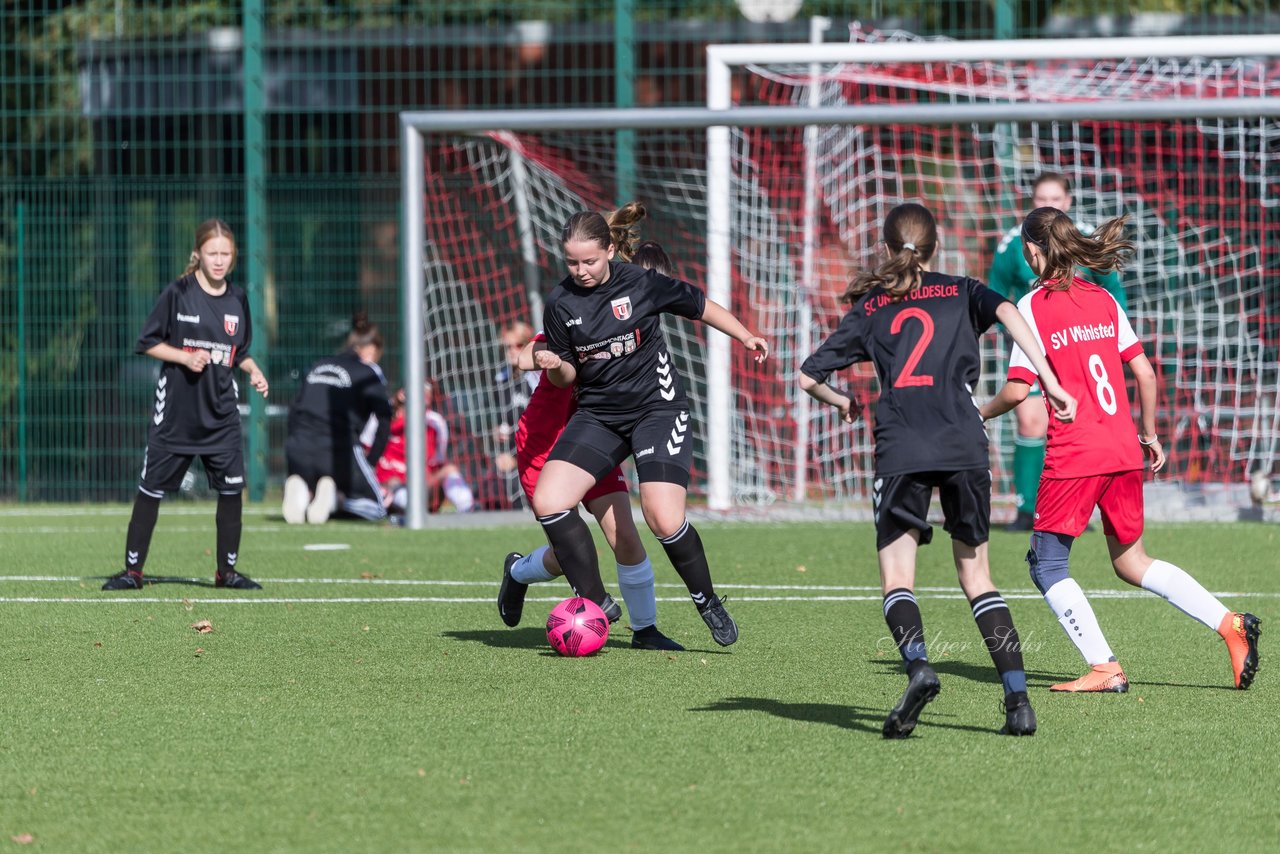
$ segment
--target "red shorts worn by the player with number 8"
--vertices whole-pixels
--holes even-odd
[[[1102,511],[1103,534],[1124,544],[1142,536],[1142,471],[1042,478],[1036,493],[1036,530],[1079,536],[1094,507]]]

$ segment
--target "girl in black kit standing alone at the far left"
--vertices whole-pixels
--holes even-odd
[[[148,426],[142,476],[124,544],[124,570],[104,590],[138,590],[160,499],[177,489],[197,456],[210,489],[218,490],[218,586],[261,588],[236,570],[244,489],[239,394],[234,370],[266,397],[262,371],[250,359],[252,321],[244,291],[227,280],[236,266],[236,237],[209,219],[196,229],[195,250],[182,278],[156,300],[134,352],[163,362]]]

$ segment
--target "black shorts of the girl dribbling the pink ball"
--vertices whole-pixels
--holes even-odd
[[[548,460],[570,462],[599,481],[627,457],[635,457],[640,483],[687,489],[694,462],[689,410],[650,410],[634,419],[604,419],[579,410]]]

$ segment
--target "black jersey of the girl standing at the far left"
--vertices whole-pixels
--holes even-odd
[[[173,453],[207,453],[239,447],[239,387],[236,370],[248,359],[252,341],[248,298],[230,282],[219,296],[200,287],[195,275],[172,282],[156,300],[134,352],[156,344],[209,352],[198,374],[164,362],[156,380],[148,442]]]

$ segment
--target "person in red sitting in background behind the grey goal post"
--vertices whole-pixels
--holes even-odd
[[[426,502],[430,512],[440,510],[448,499],[460,513],[475,508],[475,497],[458,467],[448,460],[449,425],[433,408],[435,383],[422,384],[422,405],[426,407]],[[375,469],[378,483],[384,492],[388,512],[403,513],[408,507],[408,466],[404,461],[404,389],[396,392],[390,435]]]

